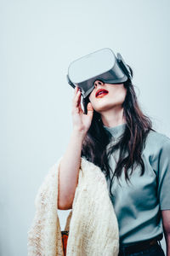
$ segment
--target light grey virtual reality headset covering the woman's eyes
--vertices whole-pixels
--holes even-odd
[[[99,49],[72,61],[68,67],[67,80],[73,88],[78,86],[86,98],[94,90],[94,82],[122,84],[132,79],[131,72],[122,55],[117,56],[109,48]]]

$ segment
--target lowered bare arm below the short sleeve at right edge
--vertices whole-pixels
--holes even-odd
[[[161,217],[167,245],[167,256],[170,256],[170,210],[162,210]]]

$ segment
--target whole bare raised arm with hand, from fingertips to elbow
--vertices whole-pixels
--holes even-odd
[[[59,195],[58,208],[68,210],[72,207],[78,183],[82,143],[91,125],[94,108],[88,103],[88,113],[85,114],[81,107],[81,91],[75,88],[72,100],[73,131],[70,143],[59,165]]]

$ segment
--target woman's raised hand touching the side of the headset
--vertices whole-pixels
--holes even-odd
[[[82,134],[86,134],[91,125],[94,108],[92,107],[92,103],[88,102],[88,113],[85,114],[82,111],[81,107],[81,91],[78,87],[75,87],[74,97],[72,99],[72,122],[73,122],[73,130],[81,131]]]

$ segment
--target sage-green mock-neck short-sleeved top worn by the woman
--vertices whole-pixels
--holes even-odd
[[[116,140],[122,135],[126,124],[105,126]],[[111,141],[113,143],[113,141]],[[118,151],[110,157],[114,172]],[[119,224],[120,241],[127,244],[144,241],[162,233],[161,210],[170,209],[170,138],[159,132],[150,131],[142,153],[144,175],[137,166],[125,181],[124,172],[120,183],[114,178],[111,201]],[[108,189],[110,180],[107,179]]]

